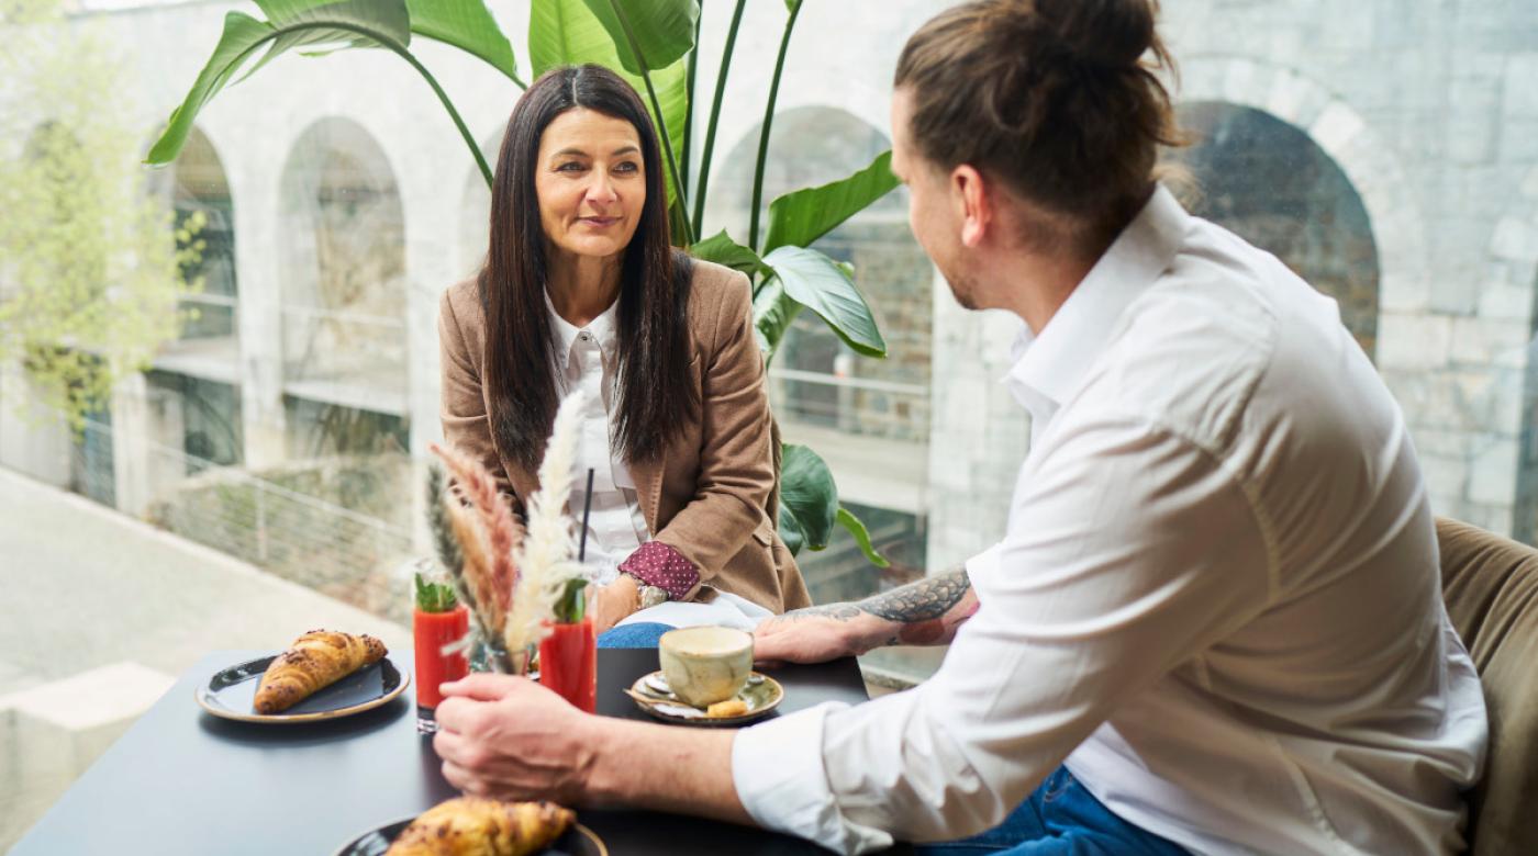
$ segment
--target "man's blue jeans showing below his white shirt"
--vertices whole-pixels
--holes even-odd
[[[924,856],[1186,856],[1186,850],[1110,813],[1058,767],[1004,822],[964,841],[924,844]]]

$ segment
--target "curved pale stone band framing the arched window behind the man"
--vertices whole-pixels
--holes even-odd
[[[1393,314],[1430,304],[1426,218],[1409,191],[1393,146],[1373,131],[1341,95],[1297,69],[1229,55],[1192,55],[1181,61],[1181,101],[1229,101],[1267,112],[1303,129],[1340,166],[1357,189],[1378,243],[1380,323]],[[1381,367],[1395,367],[1397,350],[1380,352]]]

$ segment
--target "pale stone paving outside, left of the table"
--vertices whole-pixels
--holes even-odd
[[[314,627],[411,644],[404,627],[0,469],[0,851],[203,653]]]

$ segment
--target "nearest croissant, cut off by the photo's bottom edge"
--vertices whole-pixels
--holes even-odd
[[[384,856],[531,856],[575,819],[575,811],[554,802],[461,796],[417,816]]]

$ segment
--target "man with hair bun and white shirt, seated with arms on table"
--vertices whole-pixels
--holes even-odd
[[[472,793],[757,822],[857,853],[1453,853],[1486,741],[1398,407],[1335,304],[1152,180],[1147,0],[986,0],[898,63],[892,169],[957,300],[1024,320],[1004,538],[757,632],[761,659],[952,642],[907,693],[740,733],[524,681],[440,708]],[[943,850],[943,847],[941,847]]]

